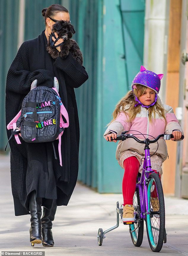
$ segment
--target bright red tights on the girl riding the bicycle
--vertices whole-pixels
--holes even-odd
[[[136,189],[136,178],[138,175],[138,169],[140,167],[140,163],[136,158],[136,156],[131,156],[124,160],[123,167],[125,169],[123,180],[122,180],[123,204],[124,205],[133,204],[133,196]],[[154,188],[154,191],[152,192],[152,196],[157,197],[156,188]]]

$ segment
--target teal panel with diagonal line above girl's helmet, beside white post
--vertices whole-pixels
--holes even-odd
[[[145,0],[121,0],[126,75],[130,85],[143,64]]]

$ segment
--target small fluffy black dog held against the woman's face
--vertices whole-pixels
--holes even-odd
[[[58,56],[61,58],[66,58],[69,52],[72,53],[73,57],[82,65],[83,56],[82,52],[79,49],[77,42],[72,38],[72,35],[76,33],[73,25],[70,22],[60,20],[52,26],[52,33],[56,32],[59,38],[64,40],[63,44],[60,46],[60,52],[51,46],[50,36],[47,43],[47,51],[53,59],[56,59]],[[58,42],[57,42],[58,43]]]

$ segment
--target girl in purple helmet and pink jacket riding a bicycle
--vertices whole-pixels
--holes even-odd
[[[111,141],[111,138],[116,139],[123,131],[128,131],[141,140],[144,140],[144,136],[154,139],[161,133],[172,133],[174,138],[171,140],[180,140],[183,131],[173,109],[162,104],[158,96],[162,77],[163,74],[157,75],[141,66],[140,72],[133,79],[132,90],[120,100],[113,112],[113,120],[104,133],[107,141]],[[158,144],[158,150],[157,142],[150,144],[149,147],[151,155],[157,150],[151,156],[151,164],[152,169],[159,172],[161,177],[161,166],[167,158],[167,146],[163,138],[158,140]],[[144,155],[143,144],[132,138],[119,141],[117,145],[116,159],[125,170],[122,180],[124,206],[122,221],[125,223],[134,222],[133,195],[138,171],[142,170],[140,163]],[[158,204],[152,203],[152,206],[154,211],[158,210]]]

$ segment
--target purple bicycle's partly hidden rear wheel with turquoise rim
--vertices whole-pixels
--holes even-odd
[[[135,212],[136,222],[134,224],[129,225],[129,231],[130,231],[130,237],[132,239],[134,246],[139,247],[142,244],[143,235],[144,235],[144,221],[143,219],[142,220],[140,219],[140,196],[139,196],[138,188],[136,188],[136,191],[133,197],[133,205],[137,206],[136,212]]]

